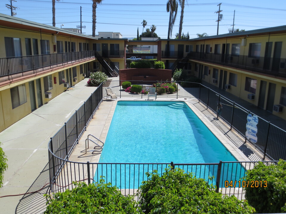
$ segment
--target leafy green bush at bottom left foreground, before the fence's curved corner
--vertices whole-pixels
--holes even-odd
[[[132,196],[123,196],[116,186],[99,183],[76,183],[76,188],[46,195],[49,205],[44,213],[137,213],[142,211]]]

